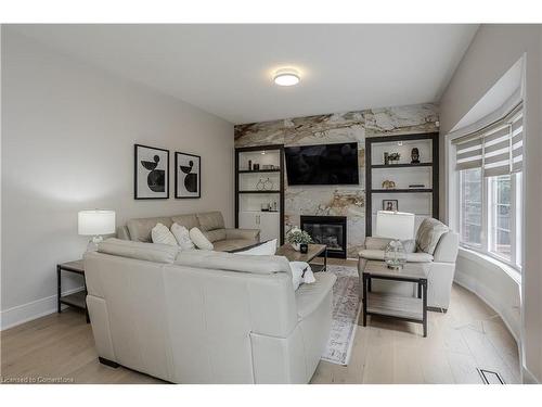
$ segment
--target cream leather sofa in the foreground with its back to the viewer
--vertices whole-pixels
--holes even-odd
[[[85,255],[100,360],[175,383],[307,383],[336,277],[294,291],[285,257],[108,239]]]

